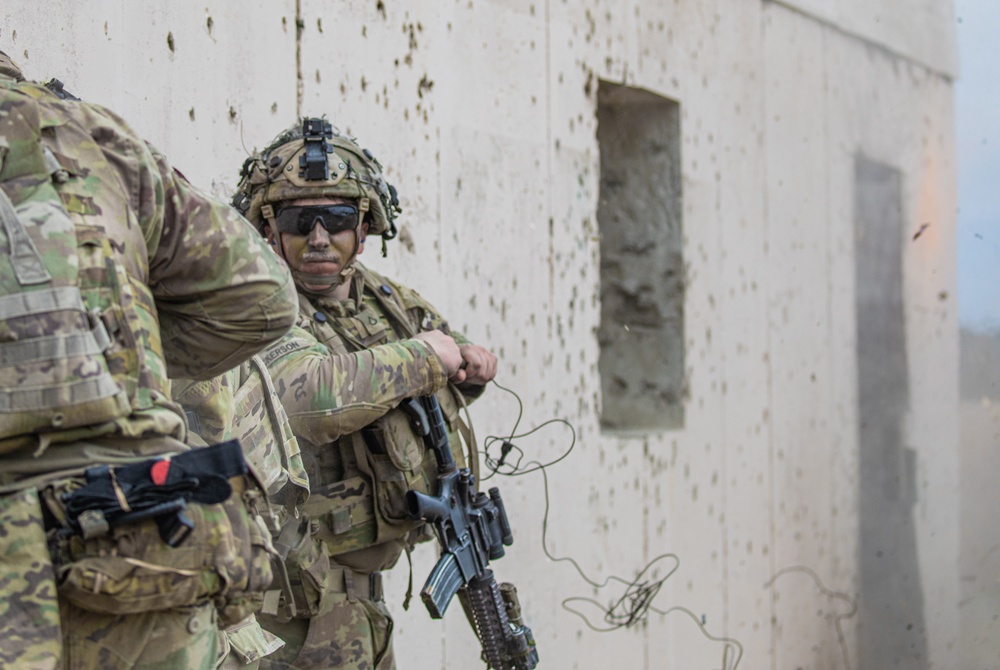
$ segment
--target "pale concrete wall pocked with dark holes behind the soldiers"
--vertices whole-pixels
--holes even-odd
[[[729,638],[750,670],[945,670],[960,667],[952,20],[944,0],[6,0],[0,49],[219,195],[299,114],[387,166],[402,230],[365,260],[499,354],[519,433],[575,427],[548,495],[539,472],[490,482],[516,535],[496,572],[540,667],[731,670]],[[679,105],[685,384],[669,429],[600,423],[601,80]],[[898,215],[888,231],[859,215],[875,211],[868,165],[892,176],[871,191]],[[865,260],[883,257],[897,297]],[[895,301],[895,331],[858,316],[870,293]],[[901,371],[882,449],[861,425],[881,408],[859,407],[880,356],[859,339],[897,331],[875,350]],[[480,438],[509,435],[517,411],[491,388]],[[548,462],[570,431],[513,441]],[[891,486],[866,488],[869,458]],[[869,523],[887,509],[898,538]],[[416,588],[434,560],[414,553]],[[647,589],[626,590],[650,562]],[[403,611],[407,577],[387,587],[400,669],[479,667],[460,608]],[[885,590],[866,593],[873,579]],[[644,593],[633,625],[603,617]]]

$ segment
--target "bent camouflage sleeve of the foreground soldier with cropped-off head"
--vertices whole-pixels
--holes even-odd
[[[168,373],[207,379],[288,331],[295,285],[234,209],[194,188],[155,150],[147,155],[137,213]]]

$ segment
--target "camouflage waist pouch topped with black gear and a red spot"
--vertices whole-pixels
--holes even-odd
[[[211,600],[223,625],[252,614],[274,549],[246,471],[232,442],[54,484],[46,500],[62,522],[50,534],[60,597],[113,615]]]

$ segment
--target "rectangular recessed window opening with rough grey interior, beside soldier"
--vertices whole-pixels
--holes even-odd
[[[684,425],[680,105],[602,81],[599,371],[601,426]]]

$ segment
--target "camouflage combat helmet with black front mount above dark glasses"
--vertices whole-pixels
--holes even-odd
[[[243,163],[233,206],[257,230],[284,200],[339,196],[356,198],[367,210],[370,235],[396,236],[399,197],[382,175],[382,165],[357,140],[324,118],[304,118]]]

